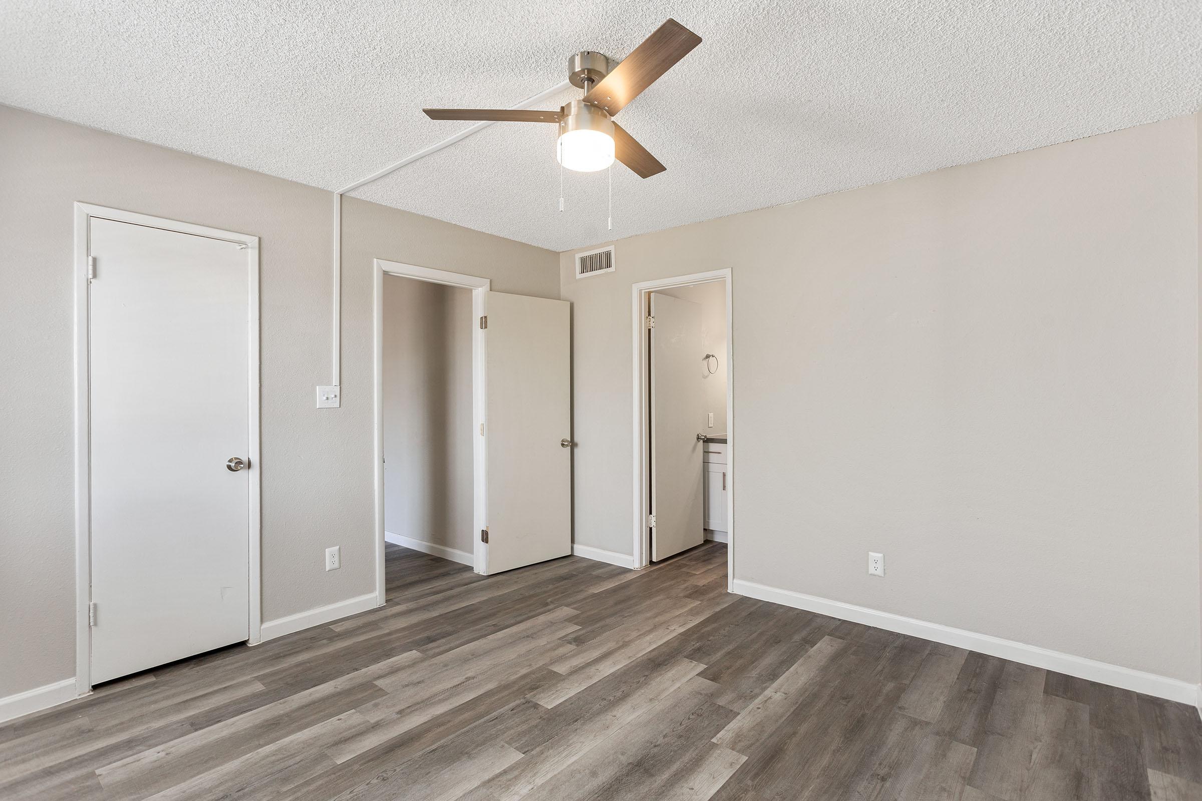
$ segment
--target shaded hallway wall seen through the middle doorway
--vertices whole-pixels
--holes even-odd
[[[471,289],[383,277],[383,527],[469,557]]]

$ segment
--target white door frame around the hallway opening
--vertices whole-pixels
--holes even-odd
[[[374,312],[374,340],[375,340],[375,506],[376,506],[376,602],[377,605],[385,603],[383,582],[383,276],[397,275],[405,279],[417,279],[430,283],[442,283],[448,287],[460,287],[471,289],[471,422],[472,429],[478,431],[484,424],[484,333],[475,321],[487,313],[486,294],[492,287],[492,281],[475,275],[463,275],[462,273],[447,273],[435,270],[429,267],[416,264],[401,264],[382,258],[374,259],[375,286],[373,288]],[[472,526],[476,531],[484,528],[484,494],[487,476],[484,473],[484,437],[472,437]],[[472,569],[476,573],[484,573],[488,568],[488,549],[480,542],[480,537],[472,537]]]

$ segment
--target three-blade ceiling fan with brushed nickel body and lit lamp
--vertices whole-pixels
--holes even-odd
[[[613,71],[609,70],[609,59],[601,53],[575,53],[567,59],[567,79],[584,90],[584,97],[571,101],[558,112],[490,108],[422,110],[432,120],[557,122],[558,159],[564,167],[590,173],[605,169],[617,159],[642,178],[650,178],[667,167],[612,118],[700,43],[700,36],[668,19]]]

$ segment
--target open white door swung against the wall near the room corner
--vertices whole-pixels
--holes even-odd
[[[488,575],[572,552],[572,340],[566,300],[488,292],[484,309]]]

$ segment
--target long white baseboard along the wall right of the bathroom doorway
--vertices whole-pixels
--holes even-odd
[[[1014,640],[1004,640],[989,634],[977,634],[976,632],[941,626],[940,623],[928,623],[927,621],[903,617],[892,612],[882,612],[867,606],[845,604],[841,600],[829,600],[828,598],[807,596],[791,590],[779,590],[742,579],[734,580],[733,592],[750,598],[758,598],[760,600],[784,604],[785,606],[805,609],[807,611],[829,617],[875,626],[888,632],[898,632],[899,634],[934,640],[935,642],[942,642],[958,648],[987,653],[992,657],[1010,659],[1011,662],[1020,662],[1035,668],[1055,670],[1070,676],[1077,676],[1078,679],[1144,693],[1146,695],[1167,698],[1171,701],[1184,704],[1195,704],[1200,706],[1200,712],[1202,712],[1202,698],[1198,694],[1198,686],[1178,679],[1076,657],[1071,653],[1051,651],[1036,645],[1016,642]]]

